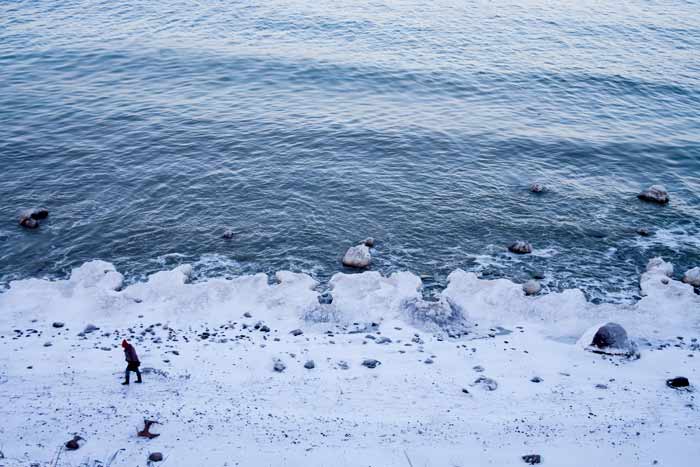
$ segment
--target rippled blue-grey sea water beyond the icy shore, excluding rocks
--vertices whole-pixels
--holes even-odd
[[[700,265],[699,50],[697,1],[0,2],[0,282],[323,281],[372,235],[429,288],[628,299],[651,256]]]

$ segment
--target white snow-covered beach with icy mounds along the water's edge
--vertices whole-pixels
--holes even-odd
[[[303,273],[190,283],[191,272],[124,286],[113,265],[92,261],[70,279],[15,281],[0,294],[0,466],[104,466],[117,451],[114,467],[146,466],[154,451],[166,466],[519,466],[526,454],[553,466],[676,466],[700,456],[700,296],[660,258],[634,305],[595,305],[580,290],[526,296],[462,270],[437,302],[409,272],[339,273],[332,303],[320,304]],[[577,345],[609,321],[639,360]],[[88,324],[100,329],[78,335]],[[154,369],[142,385],[133,375],[119,384],[122,338]],[[474,385],[479,376],[498,388]],[[690,390],[668,388],[675,376]],[[160,437],[136,436],[144,418],[161,422]],[[74,434],[82,447],[59,451]]]

